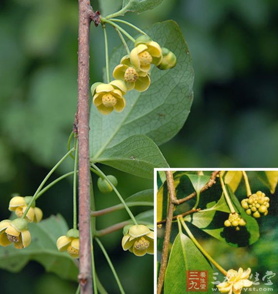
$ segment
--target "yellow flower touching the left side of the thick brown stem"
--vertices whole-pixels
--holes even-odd
[[[59,251],[68,251],[71,257],[79,257],[79,231],[70,229],[65,236],[61,236],[57,240],[57,248]]]

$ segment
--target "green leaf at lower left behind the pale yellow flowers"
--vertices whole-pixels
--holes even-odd
[[[56,247],[57,239],[68,231],[61,215],[51,216],[39,223],[30,223],[31,245],[16,249],[13,245],[0,247],[0,268],[17,272],[30,261],[39,262],[46,271],[53,272],[63,279],[77,281],[78,265],[67,252]]]

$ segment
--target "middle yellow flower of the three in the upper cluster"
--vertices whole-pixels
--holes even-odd
[[[146,72],[140,72],[131,64],[128,55],[121,59],[121,63],[113,71],[116,79],[125,81],[127,90],[135,89],[139,92],[146,91],[151,83],[150,75]]]

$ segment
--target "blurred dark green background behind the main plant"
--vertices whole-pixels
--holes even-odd
[[[105,1],[111,9],[121,2]],[[93,8],[98,7],[93,0]],[[77,9],[76,0],[0,1],[0,219],[9,217],[11,194],[34,193],[66,151],[76,109]],[[126,20],[142,28],[177,21],[192,55],[191,113],[179,134],[161,147],[171,167],[277,167],[277,13],[275,0],[164,0],[152,11],[127,14]],[[112,29],[108,33],[112,51],[120,41]],[[102,29],[93,25],[91,51],[93,83],[101,80],[104,67]],[[71,169],[68,160],[55,176]],[[151,181],[104,171],[117,176],[124,196],[152,187]],[[115,195],[96,194],[99,208],[105,207],[106,197],[117,203]],[[46,217],[59,212],[71,225],[71,181],[55,186],[39,206]],[[100,218],[98,226],[126,218],[120,212]],[[151,256],[136,259],[134,267],[134,257],[117,244],[120,235],[116,232],[103,242],[127,293],[150,291]],[[100,279],[113,280],[99,252],[97,257]],[[140,280],[143,276],[149,279]],[[0,271],[1,293],[14,293],[15,283],[21,293],[76,289],[75,283],[45,273],[35,262],[20,274]],[[117,293],[114,282],[109,287],[109,293]]]

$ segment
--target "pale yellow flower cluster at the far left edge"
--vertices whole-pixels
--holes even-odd
[[[13,244],[15,248],[22,249],[30,245],[31,234],[28,230],[29,222],[39,222],[43,218],[43,212],[35,207],[35,201],[32,202],[26,212],[31,196],[14,196],[9,202],[9,210],[15,212],[17,219],[0,221],[0,246]],[[26,213],[25,217],[23,215]]]

